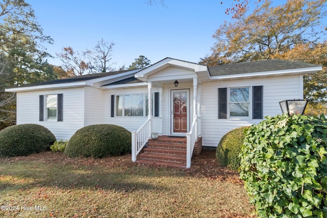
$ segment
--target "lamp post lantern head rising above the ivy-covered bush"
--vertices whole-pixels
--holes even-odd
[[[284,100],[279,102],[283,113],[286,113],[290,116],[293,114],[303,115],[306,110],[308,101],[307,100]]]

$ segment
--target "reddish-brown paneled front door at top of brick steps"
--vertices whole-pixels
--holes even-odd
[[[173,133],[188,132],[188,90],[172,90]]]

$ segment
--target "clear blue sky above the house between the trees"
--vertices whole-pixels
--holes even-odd
[[[151,63],[166,57],[198,62],[210,53],[219,26],[231,20],[226,15],[232,0],[165,0],[167,7],[150,6],[147,0],[26,0],[34,9],[55,56],[62,47],[74,51],[92,49],[102,38],[113,42],[112,60],[128,67],[139,55]],[[159,0],[157,0],[158,2]],[[220,4],[223,2],[223,4]],[[249,5],[250,9],[254,8]],[[278,3],[286,1],[278,1]],[[61,65],[57,58],[49,63]]]

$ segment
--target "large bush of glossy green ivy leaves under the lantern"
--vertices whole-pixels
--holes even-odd
[[[327,217],[326,118],[266,117],[244,139],[240,178],[259,217]]]

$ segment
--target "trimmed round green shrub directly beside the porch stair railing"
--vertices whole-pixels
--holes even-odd
[[[64,153],[69,157],[94,158],[131,153],[131,133],[109,124],[83,127],[69,139]]]

